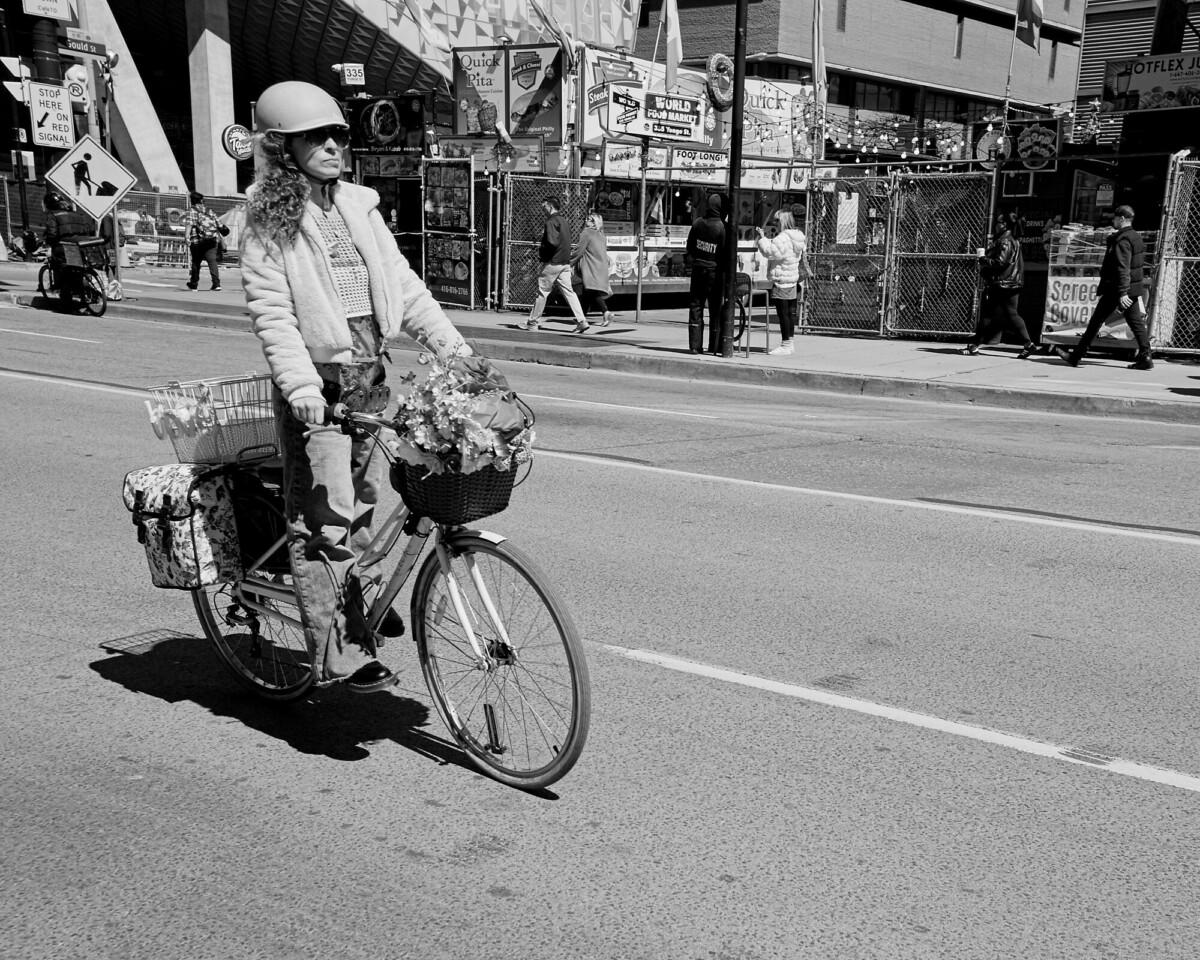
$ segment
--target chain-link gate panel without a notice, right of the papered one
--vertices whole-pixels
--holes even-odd
[[[888,331],[974,331],[991,192],[991,174],[895,176]]]

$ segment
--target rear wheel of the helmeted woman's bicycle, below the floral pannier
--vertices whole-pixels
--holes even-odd
[[[290,577],[274,577],[288,592]],[[305,696],[313,684],[312,661],[295,602],[271,599],[241,584],[246,596],[268,612],[250,610],[230,583],[192,590],[204,635],[234,679],[265,700],[286,702]]]

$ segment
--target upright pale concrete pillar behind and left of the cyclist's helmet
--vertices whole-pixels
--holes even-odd
[[[206,197],[234,194],[238,163],[221,146],[221,132],[233,122],[228,0],[186,0],[186,4],[194,188]]]

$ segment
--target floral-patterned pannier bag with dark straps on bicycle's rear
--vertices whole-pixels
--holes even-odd
[[[155,587],[193,590],[244,576],[229,480],[206,463],[145,467],[125,478]]]

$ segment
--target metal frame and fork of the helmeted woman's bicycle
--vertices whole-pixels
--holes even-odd
[[[397,504],[391,514],[388,515],[388,518],[379,526],[374,536],[371,538],[371,542],[367,545],[359,560],[359,566],[370,568],[377,563],[382,563],[386,557],[389,557],[401,536],[404,535],[409,517],[410,514],[408,508],[403,503]],[[482,530],[475,530],[474,533],[497,544],[505,539],[498,534]],[[496,668],[497,662],[491,653],[488,653],[488,650],[480,644],[479,638],[475,635],[475,630],[472,626],[472,618],[467,613],[467,607],[462,599],[462,592],[458,588],[457,577],[455,576],[450,564],[450,552],[445,542],[446,533],[443,527],[436,524],[428,517],[420,517],[416,521],[415,528],[409,532],[408,542],[404,544],[404,551],[401,554],[400,562],[396,564],[396,569],[392,571],[388,582],[383,586],[376,595],[374,601],[371,604],[371,608],[367,612],[367,625],[372,631],[379,628],[379,624],[383,622],[388,610],[391,607],[396,596],[400,594],[400,590],[408,581],[409,575],[413,572],[413,568],[416,566],[416,560],[421,554],[425,541],[430,538],[432,538],[433,550],[438,558],[438,564],[442,568],[442,574],[446,578],[446,590],[450,594],[450,602],[454,606],[455,614],[458,617],[458,623],[462,624],[463,630],[467,634],[467,638],[470,642],[472,650],[475,654],[476,666],[481,670],[491,672]],[[259,568],[268,560],[269,557],[275,554],[275,552],[281,547],[286,546],[287,539],[288,535],[284,533],[274,544],[271,544],[271,546],[268,547],[253,564],[251,564],[250,569],[246,571],[245,578],[233,586],[232,595],[246,610],[251,610],[260,617],[284,620],[298,629],[302,629],[298,617],[281,613],[278,610],[272,610],[271,607],[258,602],[258,598],[263,598],[277,604],[288,604],[290,606],[296,605],[295,592],[292,588],[258,572]],[[484,602],[484,608],[488,619],[491,619],[492,625],[496,628],[500,640],[508,644],[508,631],[504,628],[500,614],[496,610],[496,605],[492,601],[491,594],[487,592],[487,587],[485,586],[473,558],[467,560],[467,568],[470,572],[472,582],[475,584],[475,589],[479,592],[479,596]]]

